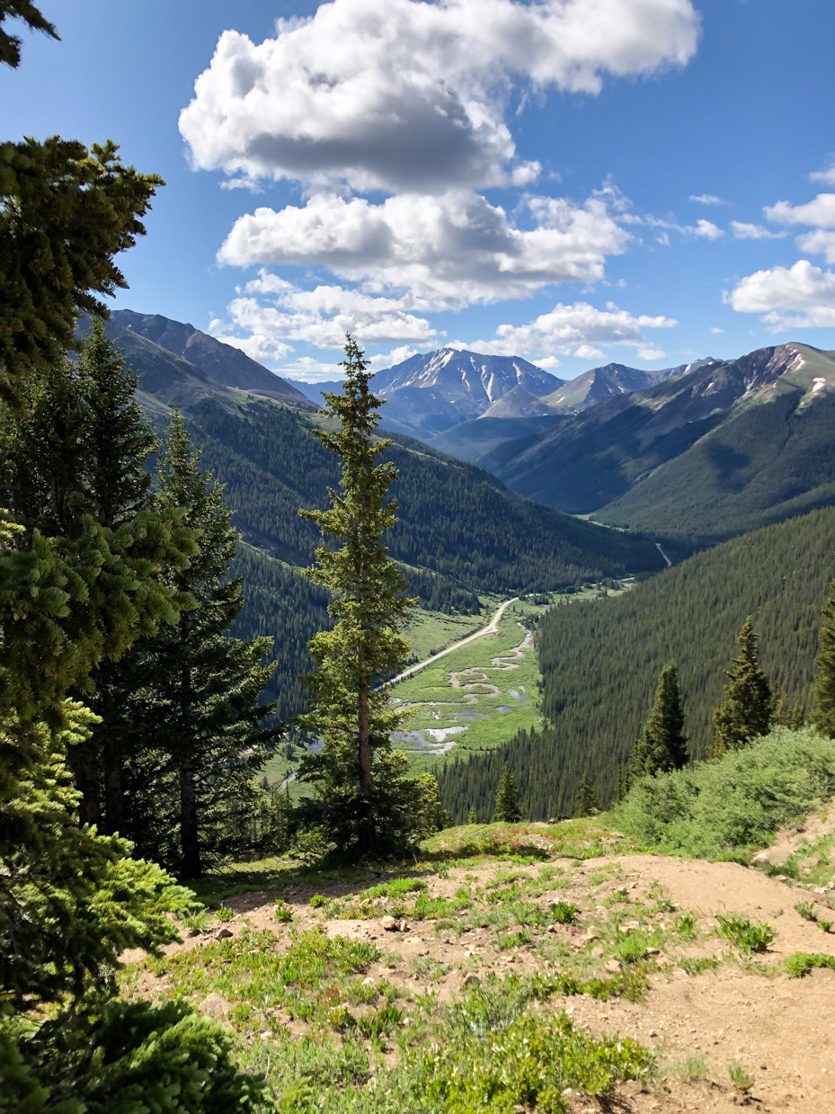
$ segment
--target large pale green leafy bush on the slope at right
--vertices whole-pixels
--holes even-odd
[[[835,740],[776,727],[718,762],[642,778],[609,814],[656,850],[747,861],[772,833],[835,795]]]

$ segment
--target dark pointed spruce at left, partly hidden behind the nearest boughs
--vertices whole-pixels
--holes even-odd
[[[145,463],[157,442],[136,402],[137,385],[138,377],[126,367],[98,321],[79,343],[77,360],[65,359],[40,377],[31,390],[29,411],[12,424],[16,436],[9,456],[10,505],[30,535],[40,531],[60,537],[66,549],[68,544],[84,543],[95,524],[112,539],[111,550],[118,549],[125,537],[148,527],[158,532],[174,526],[179,536],[190,538],[181,526],[180,512],[159,514],[149,494]],[[196,551],[189,545],[188,553]],[[173,564],[186,564],[185,555]],[[158,612],[156,618],[149,615],[141,625],[148,634],[161,618],[174,622],[176,612],[170,613],[166,599],[179,606],[189,598],[166,585],[166,567],[173,565],[165,559],[156,567],[153,592],[158,598],[154,600],[151,593],[145,592],[145,602]],[[110,569],[105,566],[104,575],[97,578],[97,588],[109,592],[117,583],[114,571],[111,561]],[[130,570],[120,575],[126,579]],[[130,612],[122,615],[131,624],[135,617]],[[82,794],[81,819],[108,834],[126,832],[126,755],[122,740],[112,730],[122,714],[120,678],[125,668],[122,654],[111,653],[85,677],[84,695],[105,723],[70,752]]]

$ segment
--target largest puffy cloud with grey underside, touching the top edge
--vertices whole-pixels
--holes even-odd
[[[332,0],[262,43],[225,31],[180,133],[195,167],[244,184],[522,185],[539,166],[515,160],[514,84],[597,94],[686,65],[699,30],[691,0]]]

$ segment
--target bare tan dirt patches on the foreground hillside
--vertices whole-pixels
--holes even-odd
[[[279,895],[293,909],[292,927],[276,924],[275,895],[267,900],[266,893],[253,892],[228,899],[226,903],[236,915],[220,930],[237,935],[247,925],[268,929],[289,946],[293,932],[321,925],[328,935],[374,941],[383,957],[370,969],[370,978],[386,979],[412,991],[425,989],[431,981],[439,999],[444,1000],[461,990],[468,975],[483,978],[488,971],[501,976],[511,970],[558,968],[559,959],[549,958],[557,952],[549,951],[549,947],[562,946],[563,955],[568,949],[588,952],[597,939],[595,926],[602,924],[612,899],[636,902],[635,908],[646,910],[664,892],[677,912],[655,912],[655,924],[664,928],[665,917],[670,920],[678,911],[688,910],[698,916],[699,934],[689,944],[678,940],[668,954],[658,957],[658,970],[649,976],[649,990],[642,1001],[600,1001],[583,995],[554,1000],[548,1007],[564,1008],[596,1036],[619,1034],[650,1047],[659,1059],[661,1082],[651,1089],[625,1084],[605,1101],[578,1096],[572,1110],[577,1114],[723,1114],[749,1105],[787,1114],[835,1114],[835,970],[816,969],[804,978],[789,978],[780,967],[780,961],[795,951],[835,956],[835,934],[822,931],[794,909],[798,901],[817,900],[817,911],[824,917],[831,912],[826,896],[736,863],[635,854],[584,862],[563,859],[552,866],[563,872],[559,887],[539,892],[536,900],[542,905],[571,901],[581,910],[579,921],[551,926],[548,934],[534,934],[530,946],[500,950],[489,926],[471,925],[464,931],[444,936],[435,931],[432,921],[406,921],[404,930],[399,924],[399,930],[387,931],[379,916],[325,920],[311,908],[313,889],[301,885]],[[478,861],[450,869],[446,877],[423,877],[431,897],[450,898],[462,883],[489,886],[502,869],[504,864],[495,861]],[[539,870],[533,864],[514,868],[513,873],[536,880]],[[336,886],[322,892],[344,898],[350,887]],[[607,900],[608,907],[602,903]],[[728,941],[715,934],[717,913],[741,913],[753,922],[770,924],[774,942],[767,951],[750,957],[734,952]],[[602,935],[603,929],[598,930]],[[166,950],[199,948],[217,931],[170,945]],[[603,949],[597,951],[602,954]],[[590,958],[593,955],[591,951]],[[717,959],[719,964],[691,975],[677,966],[685,957]],[[140,955],[122,958],[132,961]],[[420,973],[415,960],[423,958],[435,959],[442,967],[433,975]],[[599,958],[602,964],[602,955]],[[607,969],[617,969],[617,964],[612,966],[609,960]],[[148,996],[165,989],[164,983],[149,973],[143,974],[138,986]],[[682,1066],[688,1062],[696,1067],[688,1071]],[[754,1079],[748,1089],[729,1081],[731,1062]]]

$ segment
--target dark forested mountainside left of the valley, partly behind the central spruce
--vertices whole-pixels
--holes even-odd
[[[321,538],[298,508],[324,507],[338,479],[335,459],[311,432],[310,401],[299,395],[297,407],[226,387],[135,330],[109,323],[108,333],[139,372],[140,400],[157,428],[178,404],[204,465],[226,485],[224,499],[248,544],[236,566],[248,583],[235,633],[276,636],[271,695],[282,714],[297,711],[307,639],[327,622],[324,596],[301,575]],[[400,471],[391,551],[425,606],[473,613],[479,593],[554,589],[662,565],[649,539],[532,504],[410,438],[396,437],[390,453]]]

